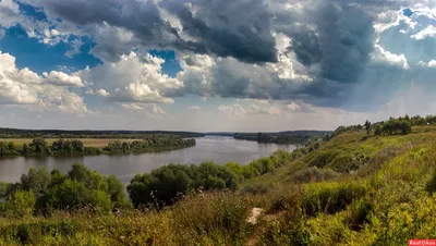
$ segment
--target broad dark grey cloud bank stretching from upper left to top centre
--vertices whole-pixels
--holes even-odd
[[[194,1],[193,4],[198,8],[195,16],[186,7],[187,1],[160,2],[161,8],[180,19],[183,32],[194,37],[195,41],[180,38],[178,30],[160,16],[153,1],[45,0],[39,4],[52,17],[80,28],[104,24],[125,28],[146,48],[233,57],[250,63],[276,61],[275,41],[269,29],[271,15],[262,1],[211,2]]]

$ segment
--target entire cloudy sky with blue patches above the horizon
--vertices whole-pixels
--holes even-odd
[[[0,126],[271,132],[435,114],[436,0],[0,0]]]

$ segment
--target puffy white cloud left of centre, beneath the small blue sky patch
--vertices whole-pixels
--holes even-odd
[[[166,94],[177,91],[183,83],[162,73],[164,62],[164,59],[148,53],[141,56],[131,52],[121,56],[116,63],[106,62],[77,74],[92,84],[89,87],[107,91],[106,96],[112,101],[173,103],[173,99],[166,97]]]

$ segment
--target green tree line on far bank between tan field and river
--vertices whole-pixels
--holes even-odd
[[[0,156],[57,156],[57,155],[100,155],[162,151],[195,146],[195,139],[184,139],[180,136],[155,134],[133,142],[111,142],[104,148],[86,147],[80,139],[55,140],[51,145],[44,138],[34,138],[22,148],[13,142],[0,142]]]

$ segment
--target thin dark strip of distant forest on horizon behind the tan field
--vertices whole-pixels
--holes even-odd
[[[153,134],[169,134],[187,137],[203,137],[203,133],[171,131],[63,131],[0,128],[0,138],[133,138],[142,139]]]

